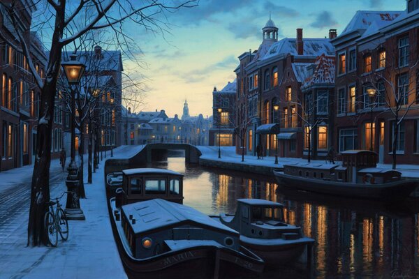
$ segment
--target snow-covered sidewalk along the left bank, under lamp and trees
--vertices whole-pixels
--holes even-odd
[[[121,146],[114,149],[114,155],[129,157],[138,149]],[[87,199],[80,199],[80,206],[86,220],[69,221],[68,241],[59,238],[57,248],[25,247],[29,209],[21,216],[15,216],[13,222],[0,224],[0,227],[13,228],[9,236],[0,238],[0,278],[126,278],[110,225],[103,184],[104,163],[105,160],[93,174],[94,183],[84,184]],[[0,174],[0,181],[3,174]],[[87,176],[87,170],[84,175]],[[8,176],[16,179],[19,172]],[[26,181],[24,178],[20,180],[22,183]],[[56,197],[64,190],[66,185],[61,181],[51,189],[51,197]],[[65,198],[61,199],[64,206],[65,202]]]

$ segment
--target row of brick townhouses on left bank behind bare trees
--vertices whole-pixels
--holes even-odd
[[[27,45],[30,45],[31,59],[41,78],[45,78],[48,54],[35,32],[30,31],[32,14],[36,11],[31,0],[18,1],[22,32]],[[78,53],[78,59],[86,63],[87,68],[80,86],[80,98],[84,94],[100,92],[103,98],[95,106],[95,121],[98,130],[97,141],[100,149],[110,149],[122,141],[120,135],[122,102],[122,59],[119,51],[94,50]],[[63,61],[68,60],[64,53]],[[36,133],[40,89],[29,72],[29,63],[20,47],[20,40],[15,33],[8,13],[0,6],[0,171],[30,165],[34,163],[36,151]],[[63,75],[64,78],[64,75]],[[61,88],[61,91],[66,89]],[[57,92],[52,126],[52,158],[59,158],[61,149],[70,149],[71,114],[66,105],[64,93]],[[104,93],[103,93],[104,92]],[[78,113],[76,113],[76,117]],[[112,125],[113,124],[113,125]],[[80,140],[87,141],[89,123],[82,127],[84,133],[76,135],[76,150]],[[91,133],[91,131],[90,131]],[[80,139],[80,137],[83,139]],[[84,144],[87,149],[87,142]]]

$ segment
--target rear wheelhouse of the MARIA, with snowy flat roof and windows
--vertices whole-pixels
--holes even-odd
[[[122,204],[142,202],[148,199],[167,199],[183,203],[183,174],[169,169],[124,169],[122,171]]]

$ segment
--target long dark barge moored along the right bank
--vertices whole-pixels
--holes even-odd
[[[409,197],[418,186],[415,179],[403,179],[394,169],[376,167],[378,155],[373,151],[350,150],[341,154],[341,165],[297,163],[275,169],[281,186],[298,190],[366,199]]]

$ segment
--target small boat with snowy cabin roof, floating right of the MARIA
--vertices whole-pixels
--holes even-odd
[[[281,266],[291,262],[311,264],[314,239],[301,227],[284,222],[284,205],[265,199],[237,199],[235,214],[221,213],[214,220],[240,232],[240,243],[265,263]]]

